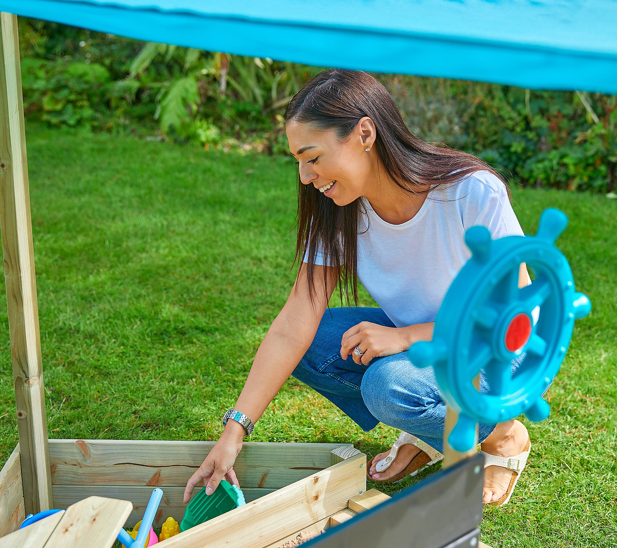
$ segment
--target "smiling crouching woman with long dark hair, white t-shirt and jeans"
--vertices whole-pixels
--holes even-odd
[[[290,374],[364,431],[380,421],[402,430],[391,452],[371,460],[371,479],[399,480],[439,459],[432,448],[442,449],[445,404],[431,368],[414,367],[407,348],[431,339],[445,292],[470,256],[468,227],[483,224],[494,238],[523,234],[499,175],[473,155],[413,136],[368,73],[321,72],[291,99],[284,121],[299,164],[294,263],[301,253],[304,262],[184,502],[202,480],[208,494],[223,478],[238,485],[242,440]],[[529,283],[524,264],[519,278]],[[380,308],[357,307],[357,279]],[[351,286],[355,308],[324,314],[337,283],[348,303]],[[517,420],[481,424],[479,440],[495,456],[486,459],[484,502],[505,504],[529,452],[527,430]],[[508,469],[508,457],[522,465]]]

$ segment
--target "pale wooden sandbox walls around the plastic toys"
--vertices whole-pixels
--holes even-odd
[[[97,509],[107,504],[102,501],[122,499],[131,501],[122,519],[127,526],[135,525],[158,486],[164,497],[154,526],[170,516],[181,521],[184,486],[213,446],[212,441],[49,440],[56,508],[67,510],[74,520],[76,509],[90,497],[99,501],[86,504],[86,512],[93,511],[93,504]],[[350,499],[366,497],[366,455],[352,444],[249,442],[234,470],[245,506],[159,544],[170,548],[223,542],[244,548],[278,546],[301,531],[317,533],[327,528],[333,515],[349,508]],[[0,537],[15,531],[25,517],[21,480],[18,446],[0,471]],[[62,521],[54,526],[58,523]],[[118,523],[118,530],[124,523]],[[23,542],[21,532],[0,538],[0,547],[17,548],[19,542]],[[51,541],[46,537],[46,542]]]

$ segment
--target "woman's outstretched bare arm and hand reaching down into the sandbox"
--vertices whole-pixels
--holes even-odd
[[[323,269],[327,269],[328,295],[323,285]],[[289,294],[283,309],[270,325],[270,329],[257,349],[251,372],[234,409],[244,413],[253,423],[274,399],[289,375],[296,369],[315,338],[321,317],[334,292],[337,282],[336,268],[315,265],[315,305],[309,298],[307,264],[300,265],[300,275]],[[297,288],[297,291],[296,291]],[[184,503],[191,499],[194,487],[204,481],[207,494],[212,494],[223,478],[238,485],[233,464],[242,449],[246,430],[235,420],[228,420],[221,437],[205,458],[197,472],[191,476],[184,491]]]

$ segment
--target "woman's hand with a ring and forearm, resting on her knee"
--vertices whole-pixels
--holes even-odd
[[[373,358],[404,352],[418,340],[431,340],[433,325],[434,322],[429,322],[407,327],[386,327],[371,322],[360,322],[343,333],[341,357],[347,359],[351,354],[357,364],[368,366]],[[354,354],[356,346],[364,352],[362,356]]]

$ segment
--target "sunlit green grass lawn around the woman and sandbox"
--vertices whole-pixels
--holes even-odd
[[[292,159],[28,129],[50,437],[217,440],[295,279]],[[558,245],[593,309],[576,322],[550,418],[526,422],[533,452],[515,495],[485,510],[481,539],[495,548],[612,547],[617,201],[513,194],[526,232],[545,207],[568,214]],[[360,295],[360,306],[376,306]],[[340,306],[336,294],[331,306]],[[17,427],[6,305],[0,311],[1,465]],[[350,442],[369,456],[394,439],[384,425],[363,433],[295,379],[252,436]]]

